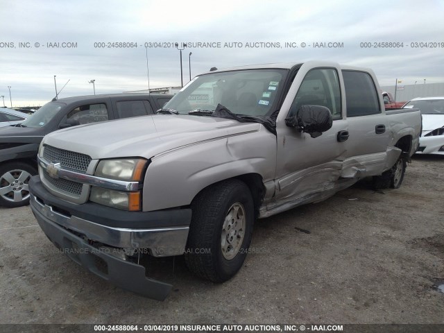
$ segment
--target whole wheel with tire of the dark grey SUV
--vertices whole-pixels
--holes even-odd
[[[0,205],[20,207],[29,203],[28,182],[37,170],[30,164],[14,162],[0,167]]]

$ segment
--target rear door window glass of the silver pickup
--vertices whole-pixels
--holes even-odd
[[[377,90],[371,76],[364,71],[343,71],[347,117],[381,113]]]

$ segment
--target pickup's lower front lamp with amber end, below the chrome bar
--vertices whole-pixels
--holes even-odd
[[[119,210],[136,211],[141,209],[141,195],[137,192],[121,192],[101,187],[91,187],[89,200]]]

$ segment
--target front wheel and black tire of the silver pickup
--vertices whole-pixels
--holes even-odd
[[[204,189],[191,203],[185,262],[190,271],[212,282],[232,278],[244,264],[254,224],[254,204],[241,180]]]

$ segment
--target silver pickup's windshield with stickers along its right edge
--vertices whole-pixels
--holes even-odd
[[[165,109],[189,114],[194,110],[214,111],[218,104],[233,114],[263,117],[278,101],[284,69],[248,69],[205,74],[194,78],[171,99]],[[203,115],[203,112],[191,114]]]

